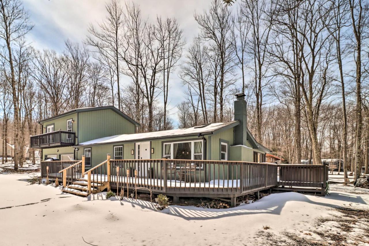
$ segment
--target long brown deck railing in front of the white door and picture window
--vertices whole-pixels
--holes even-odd
[[[275,187],[277,182],[277,164],[272,163],[169,159],[110,160],[110,163],[111,186],[137,185],[168,194],[241,195]]]

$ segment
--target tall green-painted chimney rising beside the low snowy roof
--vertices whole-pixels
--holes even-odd
[[[239,125],[234,127],[234,145],[246,145],[247,137],[247,113],[245,94],[235,94],[234,120],[239,120]]]

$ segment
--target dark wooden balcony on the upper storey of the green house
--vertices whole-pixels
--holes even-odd
[[[72,131],[52,131],[31,136],[31,148],[56,148],[73,146],[76,143],[76,133]]]

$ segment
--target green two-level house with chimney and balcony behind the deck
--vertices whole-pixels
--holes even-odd
[[[106,160],[106,154],[115,160],[265,162],[270,151],[247,129],[245,95],[236,96],[234,121],[149,133],[135,133],[139,124],[113,106],[75,109],[39,122],[44,134],[32,136],[31,147],[42,148],[42,159],[81,160],[85,155],[86,169]],[[55,143],[40,144],[39,139]]]

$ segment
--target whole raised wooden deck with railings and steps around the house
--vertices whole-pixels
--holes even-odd
[[[326,165],[212,160],[111,160],[109,155],[106,161],[87,171],[84,158],[79,162],[41,162],[43,178],[58,178],[63,181],[64,187],[81,188],[87,195],[104,182],[108,190],[121,188],[131,192],[138,188],[140,192],[151,190],[154,194],[166,194],[175,199],[231,198],[232,205],[239,196],[271,188],[276,192],[314,189],[318,191],[316,193],[324,195],[327,173]],[[78,180],[85,181],[86,187],[76,186]]]

